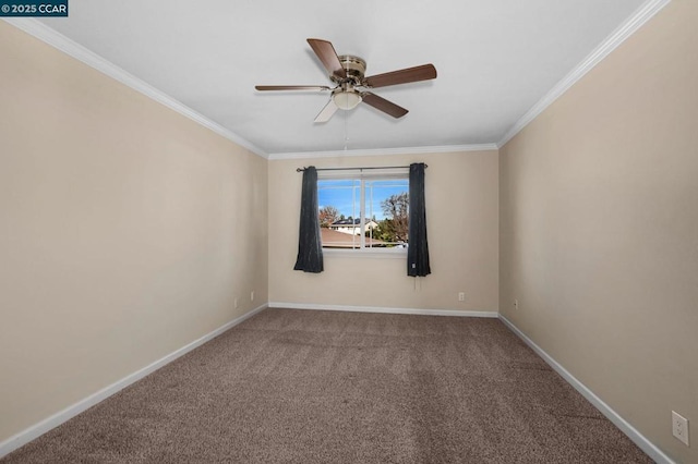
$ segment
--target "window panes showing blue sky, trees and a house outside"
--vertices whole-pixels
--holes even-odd
[[[323,248],[406,248],[409,180],[320,179]]]

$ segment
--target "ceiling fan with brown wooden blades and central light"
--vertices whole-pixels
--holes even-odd
[[[401,118],[407,114],[408,110],[372,94],[369,89],[436,78],[436,69],[433,64],[422,64],[421,66],[364,77],[366,62],[361,58],[352,54],[337,56],[335,47],[328,40],[309,38],[308,44],[329,73],[329,80],[335,83],[335,87],[257,85],[254,88],[257,90],[329,90],[332,93],[330,99],[317,114],[315,122],[327,122],[337,109],[351,110],[362,101],[393,118]]]

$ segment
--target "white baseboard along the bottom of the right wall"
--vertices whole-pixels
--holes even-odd
[[[649,441],[642,434],[625,420],[618,413],[613,411],[611,406],[597,396],[591,390],[581,383],[575,376],[569,374],[559,363],[551,355],[545,353],[543,349],[537,345],[524,332],[519,330],[509,319],[500,314],[500,320],[504,322],[514,333],[516,333],[527,345],[531,347],[540,357],[545,361],[557,374],[559,374],[570,386],[573,386],[583,398],[586,398],[593,406],[601,412],[609,420],[621,429],[635,444],[637,444],[645,453],[654,462],[660,464],[675,464],[666,454],[662,452],[654,443]]]

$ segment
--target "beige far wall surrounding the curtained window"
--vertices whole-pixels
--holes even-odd
[[[302,166],[407,166],[424,161],[432,274],[407,277],[406,258],[325,256],[320,274],[293,270]],[[496,312],[497,154],[470,151],[269,161],[269,301],[384,308]],[[421,290],[420,286],[421,285]],[[458,292],[466,301],[458,302]]]

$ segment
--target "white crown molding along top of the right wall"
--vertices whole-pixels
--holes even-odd
[[[637,32],[652,16],[666,7],[671,0],[648,0],[640,7],[625,23],[621,24],[606,39],[601,42],[587,58],[585,58],[569,74],[563,77],[555,86],[541,98],[526,114],[521,117],[496,144],[503,147],[516,134],[521,132],[531,121],[550,107],[557,98],[577,83],[585,74],[591,71],[601,60],[606,58],[613,50],[628,37]]]

